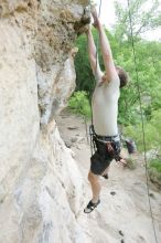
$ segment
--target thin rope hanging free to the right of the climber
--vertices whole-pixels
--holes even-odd
[[[133,31],[132,31],[132,18],[131,18],[131,11],[130,11],[130,2],[128,1],[128,12],[129,12],[129,21],[130,21],[130,35],[131,35],[131,46],[132,46],[132,53],[133,53],[133,63],[135,63],[135,72],[136,72],[136,80],[137,80],[137,89],[138,89],[138,98],[139,98],[139,106],[140,106],[140,114],[141,114],[141,127],[142,127],[142,141],[143,141],[143,155],[144,155],[144,165],[146,165],[146,181],[147,181],[147,194],[148,194],[148,202],[149,202],[149,209],[150,209],[150,216],[153,228],[153,234],[155,242],[158,243],[157,237],[157,231],[154,225],[154,218],[152,213],[152,205],[150,200],[150,190],[149,190],[149,173],[148,173],[148,160],[147,160],[147,147],[146,147],[146,133],[144,133],[144,120],[143,120],[143,113],[142,113],[142,102],[141,102],[141,91],[140,91],[140,84],[139,84],[139,74],[137,68],[137,56],[136,56],[136,46],[135,46],[135,40],[133,40]]]

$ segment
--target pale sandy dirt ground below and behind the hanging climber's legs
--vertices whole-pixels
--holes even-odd
[[[83,118],[67,110],[56,117],[63,140],[75,154],[75,160],[83,175],[86,198],[92,198],[87,175],[89,170],[90,146],[87,141],[88,129]],[[89,139],[89,138],[88,138]],[[155,243],[149,200],[154,219],[158,243],[161,242],[161,192],[149,182],[149,198],[144,161],[135,155],[136,169],[128,169],[111,162],[109,179],[101,181],[100,204],[94,212],[79,213],[82,222],[88,221],[86,233],[94,243]],[[90,242],[89,241],[89,242]]]

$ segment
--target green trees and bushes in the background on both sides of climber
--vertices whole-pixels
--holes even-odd
[[[139,103],[139,99],[141,99],[146,148],[147,150],[153,149],[160,155],[161,41],[148,41],[140,36],[147,30],[161,27],[161,14],[158,11],[159,1],[154,0],[151,8],[147,11],[143,8],[146,4],[144,0],[131,0],[130,3],[137,66],[135,66],[133,62],[129,9],[120,7],[116,1],[116,24],[111,32],[106,30],[115,63],[122,66],[129,73],[130,77],[129,85],[121,91],[118,122],[122,127],[124,135],[132,137],[141,151],[143,149]],[[95,42],[97,42],[96,30],[93,30],[93,34]],[[86,41],[86,35],[84,34],[78,38],[76,43],[79,49],[75,59],[77,86],[74,96],[69,101],[69,107],[79,114],[90,116],[89,103],[95,80],[88,62]],[[98,52],[100,66],[104,70],[100,51],[98,50]],[[160,156],[157,157],[157,161],[161,169]],[[153,165],[155,166],[157,162]]]

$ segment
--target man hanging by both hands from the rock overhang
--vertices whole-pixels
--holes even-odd
[[[94,141],[96,151],[90,158],[90,170],[88,180],[90,182],[93,198],[84,209],[90,213],[100,202],[99,177],[108,178],[110,161],[116,159],[121,163],[124,159],[120,154],[120,138],[118,135],[117,116],[120,88],[128,83],[127,73],[119,66],[115,66],[110,44],[105,30],[97,17],[96,10],[92,13],[94,27],[98,31],[105,73],[101,72],[99,62],[96,62],[96,46],[90,27],[87,30],[88,55],[93,73],[96,78],[96,87],[92,99]]]

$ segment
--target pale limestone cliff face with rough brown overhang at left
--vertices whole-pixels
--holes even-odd
[[[0,243],[87,240],[82,176],[54,122],[75,87],[87,3],[0,1]]]

